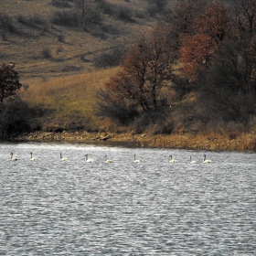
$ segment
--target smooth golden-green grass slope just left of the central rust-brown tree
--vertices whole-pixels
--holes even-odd
[[[51,110],[41,120],[44,130],[52,127],[69,128],[70,123],[74,124],[74,128],[80,125],[97,130],[104,123],[94,115],[95,95],[116,71],[117,68],[104,69],[52,79],[30,86],[20,91],[20,95],[32,105]]]

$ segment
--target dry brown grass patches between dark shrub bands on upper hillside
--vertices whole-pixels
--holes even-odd
[[[114,5],[129,6],[133,10],[142,12],[147,5],[146,1],[139,0],[130,2],[109,0],[108,2]],[[74,27],[55,25],[42,33],[36,28],[17,23],[18,15],[27,17],[37,15],[49,20],[55,11],[60,11],[60,8],[50,3],[51,0],[1,0],[0,12],[12,16],[16,26],[25,34],[23,36],[8,34],[5,41],[0,40],[0,62],[15,63],[23,84],[33,85],[63,75],[94,71],[95,54],[112,48],[118,42],[129,42],[138,31],[142,33],[149,27],[155,26],[155,19],[152,18],[136,18],[135,23],[129,23],[104,15],[101,25],[116,27],[120,33],[106,33],[106,37],[101,38],[99,35],[93,36],[93,33]],[[59,37],[63,39],[59,40]],[[51,52],[52,58],[50,59],[43,57],[42,51],[46,48]]]

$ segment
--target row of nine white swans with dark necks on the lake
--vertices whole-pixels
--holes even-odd
[[[17,158],[15,156],[13,156],[13,153],[11,153],[10,155],[11,155],[11,161],[16,161],[17,160]],[[32,152],[30,153],[30,155],[31,155],[31,157],[30,157],[31,161],[36,161],[37,160],[37,157],[33,156]],[[85,162],[87,162],[87,163],[95,162],[95,159],[88,158],[88,154],[86,154],[84,156],[85,156]],[[172,155],[170,155],[169,157],[170,157],[170,163],[176,163],[177,162],[177,160],[174,159]],[[68,158],[63,157],[62,154],[60,153],[60,161],[68,161]],[[108,159],[107,155],[105,155],[104,156],[104,162],[105,163],[112,163],[113,161],[112,161],[112,159]],[[134,155],[133,163],[140,163],[140,162],[141,161],[139,159],[136,159],[136,155]],[[207,156],[203,155],[203,163],[212,163],[212,160],[207,159]],[[192,160],[191,155],[190,155],[190,164],[197,164],[196,160]]]

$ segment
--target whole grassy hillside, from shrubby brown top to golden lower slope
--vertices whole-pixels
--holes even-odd
[[[78,12],[74,1],[62,1],[65,8],[56,2],[1,0],[0,63],[14,63],[21,97],[47,110],[35,120],[43,130],[104,129],[106,121],[93,113],[94,96],[116,69],[99,70],[94,59],[154,27],[156,17],[148,12],[154,1],[103,1],[99,22],[85,28],[56,24],[56,13]],[[10,28],[3,34],[5,20]]]

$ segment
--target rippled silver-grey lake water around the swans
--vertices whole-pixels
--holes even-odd
[[[2,143],[0,183],[0,255],[256,255],[255,153]]]

